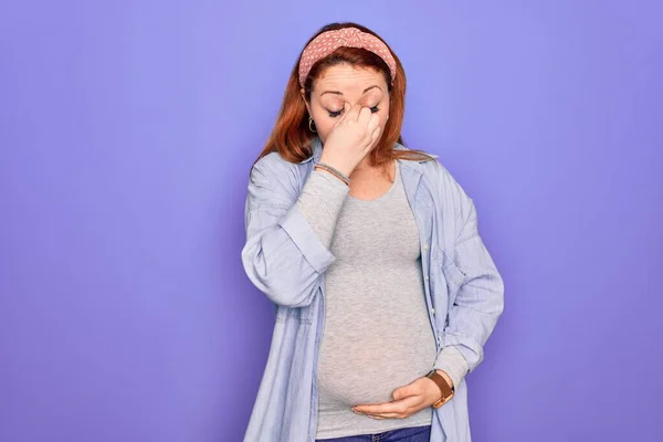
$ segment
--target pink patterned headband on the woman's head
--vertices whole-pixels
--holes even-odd
[[[387,66],[389,66],[391,81],[393,82],[396,77],[396,60],[393,60],[389,48],[372,34],[361,32],[357,28],[343,28],[336,31],[323,32],[308,43],[299,60],[299,84],[302,87],[304,87],[304,82],[311,72],[311,67],[320,59],[324,59],[341,46],[366,49],[379,55],[385,60]]]

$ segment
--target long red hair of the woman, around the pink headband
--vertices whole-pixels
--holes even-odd
[[[357,23],[343,22],[343,23],[330,23],[323,27],[306,42],[304,49],[311,43],[317,35],[323,32],[344,29],[344,28],[357,28],[362,32],[370,33],[378,39],[382,40],[377,33],[370,29],[362,27]],[[385,41],[385,40],[382,40]],[[387,42],[385,42],[387,44]],[[302,59],[302,52],[293,67],[291,76],[285,87],[285,94],[283,96],[283,103],[276,124],[265,144],[264,149],[257,157],[256,161],[265,155],[277,151],[281,156],[291,162],[301,162],[313,155],[311,148],[311,141],[316,137],[316,134],[311,131],[308,128],[308,110],[306,109],[306,102],[311,102],[311,92],[313,90],[313,83],[318,78],[324,71],[337,64],[349,64],[355,67],[367,67],[376,70],[385,75],[387,81],[388,91],[390,94],[389,105],[389,119],[385,130],[380,136],[380,140],[377,146],[369,152],[369,164],[371,166],[385,166],[392,159],[408,159],[408,160],[431,160],[433,157],[422,150],[407,149],[396,150],[393,146],[396,143],[401,145],[403,139],[401,137],[401,127],[403,123],[403,116],[406,110],[406,71],[393,53],[391,48],[387,44],[389,51],[396,60],[396,78],[393,78],[393,85],[391,84],[391,72],[387,66],[387,63],[377,54],[359,48],[338,48],[336,51],[319,60],[315,63],[306,81],[304,83],[304,95],[302,97],[299,90],[299,60]]]

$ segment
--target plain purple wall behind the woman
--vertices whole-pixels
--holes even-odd
[[[505,278],[474,440],[663,440],[659,2],[105,3],[0,6],[0,441],[242,439],[249,167],[336,20],[401,57]]]

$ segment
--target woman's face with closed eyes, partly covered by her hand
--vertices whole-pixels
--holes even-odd
[[[372,69],[337,64],[327,67],[313,82],[311,103],[306,102],[306,107],[323,143],[338,118],[356,104],[368,107],[380,116],[380,133],[383,134],[389,119],[389,91],[382,73]]]

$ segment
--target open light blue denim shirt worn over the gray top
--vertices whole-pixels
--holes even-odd
[[[322,155],[319,139],[312,150],[299,164],[272,152],[251,170],[242,263],[251,282],[274,302],[276,320],[244,442],[315,441],[325,270],[335,257],[295,204]],[[432,157],[399,160],[401,177],[419,228],[438,352],[456,346],[472,372],[504,309],[504,284],[478,234],[473,200]],[[454,397],[434,410],[430,440],[471,441],[464,378]]]

